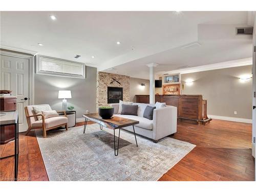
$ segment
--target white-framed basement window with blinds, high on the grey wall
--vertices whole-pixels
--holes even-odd
[[[62,77],[86,78],[84,63],[38,55],[36,73]]]

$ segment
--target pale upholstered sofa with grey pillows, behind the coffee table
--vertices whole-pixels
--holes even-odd
[[[154,104],[146,103],[132,103],[138,105],[138,116],[117,114],[119,103],[111,104],[114,108],[114,116],[123,117],[127,119],[138,120],[140,123],[134,125],[135,133],[137,135],[149,138],[154,142],[158,142],[168,135],[177,132],[177,108],[176,106],[169,106],[155,109],[153,113],[153,120],[143,117],[144,110],[147,105],[155,106]],[[127,126],[124,130],[133,132],[133,126]]]

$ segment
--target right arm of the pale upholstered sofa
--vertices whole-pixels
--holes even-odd
[[[166,106],[153,113],[153,138],[159,140],[177,132],[177,108]]]

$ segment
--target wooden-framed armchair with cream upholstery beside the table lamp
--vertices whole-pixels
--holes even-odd
[[[59,126],[64,126],[66,130],[68,130],[68,118],[66,111],[59,111],[58,113],[62,112],[65,114],[65,116],[57,116],[57,117],[50,117],[45,119],[45,116],[42,114],[35,114],[33,110],[33,106],[47,106],[49,109],[50,105],[48,104],[41,104],[41,105],[28,105],[25,106],[25,114],[27,117],[27,122],[28,122],[28,131],[26,135],[30,132],[30,130],[33,129],[42,129],[43,136],[44,138],[47,137],[46,131],[55,129],[56,127]],[[42,119],[38,120],[37,117],[41,116]]]

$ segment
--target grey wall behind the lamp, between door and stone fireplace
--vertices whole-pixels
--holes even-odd
[[[86,67],[85,79],[35,74],[35,104],[50,104],[53,110],[61,110],[62,99],[58,99],[58,91],[71,90],[68,106],[75,107],[77,118],[87,110],[95,113],[96,73],[96,68]]]

